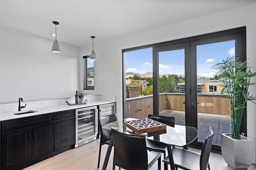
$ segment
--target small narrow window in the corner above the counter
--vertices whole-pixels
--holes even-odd
[[[94,90],[94,61],[90,55],[83,57],[83,83],[84,90]]]

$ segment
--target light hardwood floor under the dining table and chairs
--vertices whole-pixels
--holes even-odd
[[[97,170],[99,142],[100,140],[97,139],[78,148],[70,149],[25,168],[25,170]],[[102,169],[107,148],[108,145],[106,144],[102,146],[99,170]],[[193,148],[189,149],[200,152],[200,150]],[[107,170],[112,170],[113,153],[114,151],[112,149]],[[211,170],[230,170],[230,167],[226,164],[222,155],[215,153],[210,154],[210,168]],[[161,169],[164,169],[163,163],[161,164]],[[170,166],[168,166],[168,169],[170,169]],[[254,169],[256,169],[255,164]],[[118,170],[118,167],[116,167],[116,170]],[[150,170],[157,170],[157,162],[150,168]]]

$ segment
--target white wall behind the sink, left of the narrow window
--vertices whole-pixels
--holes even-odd
[[[52,38],[52,40],[50,40]],[[33,36],[1,27],[0,102],[68,97],[78,89],[79,48],[61,43],[52,53],[54,37]]]

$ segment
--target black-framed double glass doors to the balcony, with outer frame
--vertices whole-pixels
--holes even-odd
[[[212,149],[220,151],[220,134],[230,132],[230,108],[225,94],[220,94],[222,80],[216,74],[218,70],[212,66],[232,56],[246,60],[246,28],[125,49],[123,63],[127,61],[125,52],[146,48],[152,49],[153,109],[150,111],[148,104],[142,111],[147,109],[147,114],[172,116],[176,125],[197,128],[195,146],[202,147],[206,132],[212,127]],[[124,66],[124,71],[126,69]],[[130,99],[134,103],[136,100],[138,98]],[[132,104],[126,105],[125,97],[124,109],[124,117],[129,111],[137,111]],[[246,111],[240,130],[246,133]]]

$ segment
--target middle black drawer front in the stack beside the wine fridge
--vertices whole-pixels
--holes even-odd
[[[76,129],[75,117],[54,122],[54,135],[63,134]]]

